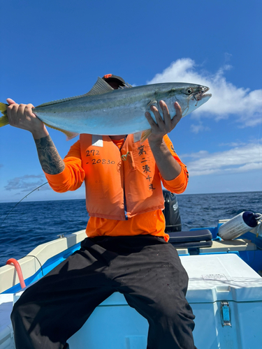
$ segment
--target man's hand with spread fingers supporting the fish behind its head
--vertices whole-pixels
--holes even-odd
[[[154,116],[157,122],[155,122],[152,119],[149,112],[145,113],[145,117],[147,118],[147,121],[150,123],[151,130],[152,130],[152,134],[148,138],[148,141],[150,142],[150,144],[159,143],[159,142],[161,143],[163,140],[163,136],[169,133],[170,131],[172,131],[173,128],[175,128],[177,123],[182,118],[182,110],[180,105],[177,102],[175,102],[176,114],[175,114],[175,117],[173,117],[173,119],[171,119],[170,117],[169,110],[166,103],[164,101],[160,101],[159,105],[163,110],[163,119],[161,118],[161,115],[157,110],[157,107],[155,107],[154,105],[152,105],[151,110],[154,113]]]

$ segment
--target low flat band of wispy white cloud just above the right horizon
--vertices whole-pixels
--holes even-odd
[[[208,151],[198,151],[184,154],[181,158],[187,165],[190,177],[262,170],[262,144],[249,143],[213,154],[209,154]],[[184,158],[189,158],[189,161],[185,161]]]

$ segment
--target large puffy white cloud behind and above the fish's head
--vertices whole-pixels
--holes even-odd
[[[262,117],[262,89],[251,91],[244,87],[236,87],[226,81],[224,75],[230,68],[231,66],[225,65],[217,73],[212,74],[198,68],[192,59],[177,59],[162,73],[155,75],[148,84],[160,82],[203,84],[210,87],[212,98],[194,111],[194,115],[212,115],[219,120],[234,114],[240,126],[256,126],[261,123]]]

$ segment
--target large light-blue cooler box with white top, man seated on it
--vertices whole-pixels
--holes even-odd
[[[180,256],[198,349],[262,348],[262,278],[238,255]],[[69,339],[70,349],[146,349],[147,320],[118,292]]]

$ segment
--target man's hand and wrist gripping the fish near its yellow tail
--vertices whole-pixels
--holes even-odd
[[[48,135],[45,124],[32,112],[34,105],[18,105],[11,98],[8,98],[6,101],[9,104],[7,108],[7,117],[11,126],[31,132],[34,139],[40,139]]]

